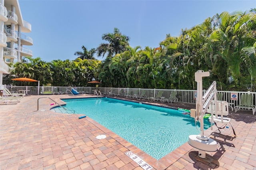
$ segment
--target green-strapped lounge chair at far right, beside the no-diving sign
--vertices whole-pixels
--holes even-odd
[[[253,105],[253,94],[242,94],[240,104],[235,107],[235,112],[240,109],[252,109],[252,115],[255,113],[255,105]]]

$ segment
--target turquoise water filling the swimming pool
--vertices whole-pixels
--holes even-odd
[[[63,101],[68,109],[87,115],[156,159],[187,142],[190,134],[200,134],[200,123],[197,130],[194,118],[174,109],[111,98]],[[210,127],[208,121],[204,124]]]

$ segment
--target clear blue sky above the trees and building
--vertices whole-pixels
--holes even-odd
[[[106,43],[102,34],[115,27],[130,37],[132,47],[153,48],[166,34],[179,36],[181,29],[217,13],[256,8],[256,0],[19,0],[19,4],[23,20],[32,25],[26,35],[34,45],[26,47],[44,61],[74,60],[82,45],[90,50]]]

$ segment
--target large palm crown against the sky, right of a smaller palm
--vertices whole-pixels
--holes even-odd
[[[102,35],[102,40],[108,41],[108,43],[101,43],[97,47],[98,57],[107,53],[108,57],[113,57],[118,53],[122,53],[126,50],[126,46],[129,45],[130,38],[124,34],[121,34],[118,28],[114,28],[114,33],[107,33]]]

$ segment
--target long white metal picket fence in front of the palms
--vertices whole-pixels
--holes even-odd
[[[125,93],[129,93],[133,95],[136,88],[110,88],[110,87],[53,87],[53,86],[40,86],[39,91],[38,87],[35,86],[8,86],[6,85],[10,91],[19,91],[19,90],[27,90],[29,95],[44,95],[44,94],[70,94],[72,88],[76,89],[81,93],[89,93],[93,94],[94,90],[100,90],[101,93],[108,93],[111,90],[111,93],[118,94],[121,89],[124,89]],[[69,91],[67,91],[69,90]],[[143,90],[146,90],[147,97],[156,97],[159,91],[163,91],[162,97],[169,98],[172,91],[177,92],[177,101],[180,103],[196,103],[196,90],[178,90],[178,89],[138,89],[139,95]],[[203,91],[203,93],[206,90]],[[39,93],[38,93],[39,92]],[[254,105],[256,105],[256,92],[247,92],[247,91],[218,91],[218,93],[223,94],[223,101],[227,101],[228,103],[234,103],[233,106],[239,104],[240,96],[245,93],[251,93],[254,95]],[[232,95],[236,95],[232,97]]]

